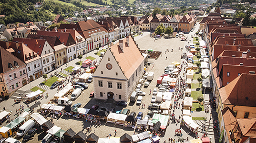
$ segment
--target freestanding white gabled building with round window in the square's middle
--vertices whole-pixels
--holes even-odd
[[[143,76],[144,57],[132,36],[108,48],[93,74],[94,97],[128,101]]]

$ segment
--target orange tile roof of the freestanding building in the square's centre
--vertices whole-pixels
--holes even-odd
[[[126,39],[127,38],[123,39],[123,52],[120,49],[119,43],[111,46],[110,50],[113,52],[113,55],[124,72],[125,77],[130,79],[135,70],[143,62],[144,57],[133,38],[129,36],[129,46],[126,43]]]

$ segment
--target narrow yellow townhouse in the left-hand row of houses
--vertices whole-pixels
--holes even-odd
[[[55,50],[56,67],[67,63],[67,46],[61,44],[53,47]]]

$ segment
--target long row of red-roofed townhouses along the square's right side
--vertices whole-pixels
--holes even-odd
[[[219,9],[203,18],[200,28],[210,56],[220,142],[253,143],[247,132],[256,123],[256,47],[246,38],[252,28],[228,24]]]

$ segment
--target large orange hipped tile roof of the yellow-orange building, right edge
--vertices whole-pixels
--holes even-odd
[[[242,73],[225,87],[219,89],[223,104],[256,107],[256,74]]]

